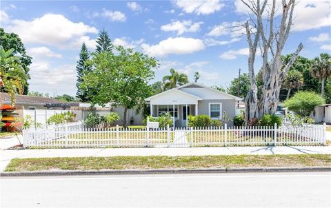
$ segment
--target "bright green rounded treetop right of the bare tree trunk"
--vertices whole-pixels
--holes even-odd
[[[324,103],[324,99],[319,94],[301,91],[287,99],[283,106],[288,107],[288,110],[299,114],[299,116],[309,116],[315,106],[323,105]]]

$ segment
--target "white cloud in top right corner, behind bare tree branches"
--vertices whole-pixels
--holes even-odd
[[[270,0],[271,1],[271,0]],[[331,3],[328,0],[297,1],[294,8],[292,31],[303,31],[328,27],[331,25]],[[235,1],[237,12],[248,14],[248,8],[240,0]],[[269,8],[269,7],[268,7]],[[275,17],[281,15],[281,1],[276,1],[277,12]],[[270,9],[269,9],[270,11]],[[264,12],[265,17],[268,12]]]

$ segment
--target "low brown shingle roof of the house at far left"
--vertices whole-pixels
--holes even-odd
[[[10,96],[7,93],[0,93],[0,97],[3,98],[3,104],[10,104]],[[54,104],[54,103],[66,103],[63,101],[59,101],[54,98],[44,98],[39,96],[28,96],[28,95],[19,95],[15,96],[16,105],[45,105],[46,103]]]

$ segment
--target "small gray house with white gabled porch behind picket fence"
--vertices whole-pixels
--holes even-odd
[[[166,112],[172,115],[174,127],[186,127],[188,115],[208,115],[221,119],[225,112],[230,118],[236,115],[241,98],[215,90],[200,83],[188,83],[146,98],[150,114],[154,117]],[[230,123],[232,125],[232,123]]]

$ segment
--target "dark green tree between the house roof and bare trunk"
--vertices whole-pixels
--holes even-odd
[[[240,82],[239,82],[239,80],[240,80]],[[239,85],[239,83],[240,83],[240,85]],[[239,79],[237,77],[231,81],[231,84],[229,87],[229,94],[238,96],[238,87],[239,87],[239,97],[245,98],[245,96],[250,91],[250,78],[248,77],[248,74],[243,73],[239,76]]]

